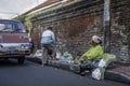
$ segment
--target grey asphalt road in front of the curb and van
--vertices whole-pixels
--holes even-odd
[[[73,72],[25,61],[0,60],[0,86],[129,86],[112,81],[95,81]]]

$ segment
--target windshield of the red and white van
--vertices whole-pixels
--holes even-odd
[[[0,20],[0,32],[26,32],[25,27],[20,22]]]

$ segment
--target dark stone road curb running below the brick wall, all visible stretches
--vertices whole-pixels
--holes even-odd
[[[37,63],[41,63],[40,58],[26,58],[26,59],[29,60],[29,61],[37,62]],[[68,71],[75,72],[75,73],[79,72],[79,66],[78,64],[60,62],[57,60],[49,60],[48,66],[58,68],[58,69],[68,70]],[[125,84],[130,84],[130,77],[129,76],[127,76],[123,73],[116,72],[116,71],[107,70],[105,72],[104,78],[115,81],[115,82],[125,83]]]

